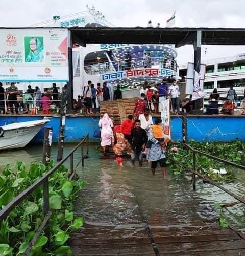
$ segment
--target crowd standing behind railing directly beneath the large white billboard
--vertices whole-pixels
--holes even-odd
[[[38,86],[33,89],[29,84],[28,89],[21,93],[14,82],[11,82],[6,90],[0,82],[0,113],[9,114],[10,112],[18,115],[20,111],[23,111],[24,114],[34,114],[36,110],[42,110],[43,113],[49,114],[51,109],[58,111],[59,106],[59,92],[56,83],[52,84],[52,91],[44,88],[41,93]]]

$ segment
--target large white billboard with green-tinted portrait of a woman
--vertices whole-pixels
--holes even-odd
[[[68,81],[68,30],[0,29],[0,81]]]

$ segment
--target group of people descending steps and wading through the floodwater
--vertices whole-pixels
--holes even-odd
[[[166,146],[170,141],[163,133],[162,120],[156,118],[153,124],[150,110],[144,107],[143,113],[129,115],[121,125],[114,126],[107,113],[99,121],[101,128],[101,146],[104,155],[112,146],[118,165],[123,166],[122,154],[130,155],[132,165],[135,161],[141,167],[143,159],[151,162],[152,174],[155,175],[157,164],[162,168],[163,178],[166,179]]]

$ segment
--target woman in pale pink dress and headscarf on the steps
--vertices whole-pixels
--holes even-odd
[[[106,154],[106,147],[114,144],[113,122],[107,113],[100,119],[99,127],[101,127],[101,146]]]

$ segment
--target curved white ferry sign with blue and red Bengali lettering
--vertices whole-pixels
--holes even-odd
[[[101,74],[102,81],[111,81],[122,78],[137,77],[137,76],[171,76],[173,70],[170,69],[156,69],[156,68],[142,68],[142,69],[130,69],[123,71],[116,71],[113,73]]]

